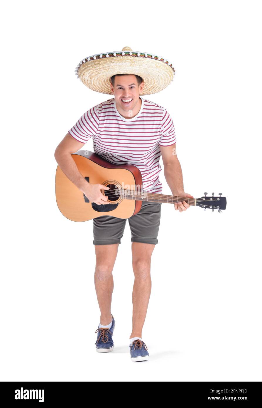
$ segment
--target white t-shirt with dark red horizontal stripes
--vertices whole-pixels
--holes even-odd
[[[160,147],[176,142],[171,116],[162,106],[140,96],[140,111],[126,119],[116,109],[115,98],[93,106],[68,131],[86,143],[93,136],[93,151],[113,164],[133,164],[142,174],[143,189],[162,193]]]

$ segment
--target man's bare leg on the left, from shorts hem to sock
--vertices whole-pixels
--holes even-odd
[[[100,323],[111,322],[111,300],[114,288],[113,266],[118,253],[119,244],[95,245],[95,291],[100,308]]]

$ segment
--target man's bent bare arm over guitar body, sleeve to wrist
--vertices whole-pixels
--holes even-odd
[[[62,170],[62,172],[73,182],[83,193],[90,184],[85,180],[79,172],[73,157],[73,153],[77,152],[84,146],[85,143],[78,142],[69,133],[65,135],[64,139],[58,144],[55,151],[55,159]]]

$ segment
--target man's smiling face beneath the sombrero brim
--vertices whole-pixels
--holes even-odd
[[[140,111],[139,95],[143,90],[144,82],[138,85],[135,75],[115,75],[114,86],[110,84],[111,91],[115,95],[115,104],[122,116],[132,117]],[[130,115],[130,111],[133,113]]]

